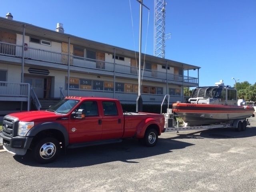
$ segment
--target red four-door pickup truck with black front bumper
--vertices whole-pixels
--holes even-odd
[[[121,142],[138,138],[152,147],[164,132],[164,115],[125,112],[110,98],[67,97],[46,111],[4,116],[0,144],[12,154],[28,149],[36,161],[54,161],[61,149]]]

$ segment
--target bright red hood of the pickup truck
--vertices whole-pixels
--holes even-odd
[[[26,112],[11,113],[6,115],[7,118],[8,116],[18,118],[20,121],[31,122],[31,121],[41,121],[44,119],[47,119],[48,121],[56,120],[58,118],[68,117],[68,114],[56,114],[50,111],[26,111]]]

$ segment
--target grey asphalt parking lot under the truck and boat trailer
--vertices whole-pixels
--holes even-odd
[[[153,148],[136,139],[68,150],[46,165],[0,152],[0,191],[256,191],[256,118],[233,128],[163,133]]]

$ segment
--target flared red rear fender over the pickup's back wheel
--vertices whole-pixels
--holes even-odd
[[[137,127],[136,138],[143,138],[148,126],[152,126],[156,128],[156,131],[158,132],[158,136],[161,135],[161,129],[160,129],[161,126],[159,122],[154,118],[146,118],[142,122],[140,122],[140,124]]]

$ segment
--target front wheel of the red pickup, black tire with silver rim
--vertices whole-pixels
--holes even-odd
[[[32,149],[35,160],[46,164],[56,160],[60,153],[60,142],[55,138],[44,138],[36,143]]]

